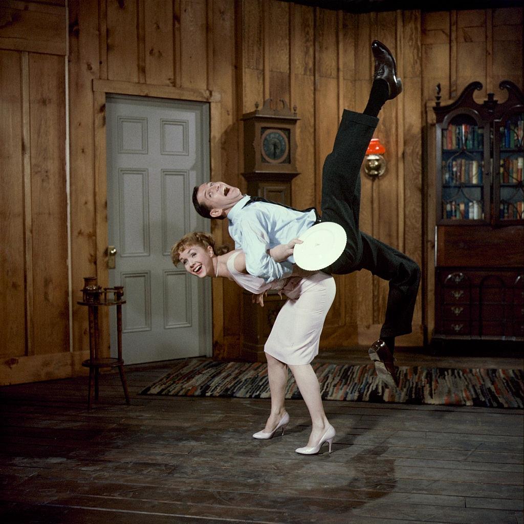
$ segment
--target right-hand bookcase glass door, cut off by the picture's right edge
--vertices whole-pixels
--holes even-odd
[[[522,171],[524,167],[524,113],[515,113],[495,122],[494,162],[498,172],[494,174],[495,222],[514,223],[524,219],[524,190]]]

